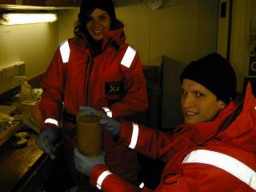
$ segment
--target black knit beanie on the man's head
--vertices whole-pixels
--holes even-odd
[[[205,86],[226,104],[235,97],[237,80],[234,69],[220,54],[209,54],[190,62],[182,72],[181,83],[184,78]]]

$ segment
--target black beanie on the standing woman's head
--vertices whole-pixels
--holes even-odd
[[[111,22],[115,21],[114,3],[111,0],[82,0],[78,14],[80,22],[86,22],[96,8],[105,10],[110,15]]]

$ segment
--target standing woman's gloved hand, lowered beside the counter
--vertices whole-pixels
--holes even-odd
[[[43,130],[42,133],[38,134],[36,142],[38,147],[43,150],[46,154],[54,154],[56,146],[53,145],[54,141],[58,138],[57,128],[48,128]]]

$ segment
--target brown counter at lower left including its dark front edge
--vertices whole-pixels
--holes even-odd
[[[30,133],[24,148],[11,146],[11,139],[0,146],[0,191],[32,191],[33,187],[39,187],[38,182],[42,185],[41,178],[46,179],[46,174],[50,174],[49,170],[42,171],[50,159],[39,150],[35,136],[34,132]],[[40,172],[43,173],[42,177],[35,179]],[[31,183],[33,181],[34,183]]]

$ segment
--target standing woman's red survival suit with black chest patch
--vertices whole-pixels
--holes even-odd
[[[92,56],[86,38],[70,38],[54,54],[42,79],[42,101],[39,104],[44,128],[58,126],[63,115],[62,132],[66,151],[73,160],[76,146],[75,118],[79,106],[93,106],[120,118],[145,111],[148,107],[146,79],[134,48],[125,42],[123,26],[108,30],[102,39],[102,54]],[[73,117],[73,118],[72,118]],[[71,121],[66,121],[71,118]],[[71,147],[70,147],[71,146]],[[106,164],[114,173],[133,181],[138,173],[137,156],[133,150],[112,141],[105,133]],[[71,159],[72,158],[72,159]],[[74,163],[71,165],[74,168]]]

